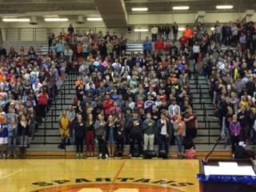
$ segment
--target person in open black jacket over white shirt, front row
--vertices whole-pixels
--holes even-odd
[[[158,128],[158,152],[162,150],[162,144],[164,144],[166,154],[169,154],[168,141],[170,139],[172,126],[166,118],[166,114],[161,114],[161,118],[157,122]],[[169,157],[169,155],[168,155]]]

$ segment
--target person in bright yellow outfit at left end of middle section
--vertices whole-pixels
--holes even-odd
[[[70,138],[70,118],[66,114],[66,110],[62,111],[59,117],[60,134],[63,138]]]

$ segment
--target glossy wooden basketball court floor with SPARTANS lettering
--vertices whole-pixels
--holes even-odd
[[[198,160],[1,160],[1,192],[198,192]]]

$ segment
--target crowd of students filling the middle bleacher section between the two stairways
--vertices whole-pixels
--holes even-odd
[[[62,138],[71,137],[77,146],[77,158],[83,157],[84,142],[87,157],[94,156],[95,142],[99,158],[113,157],[115,146],[122,157],[124,144],[130,145],[130,157],[142,156],[154,145],[168,154],[175,144],[184,156],[183,139],[196,138],[198,129],[188,63],[177,54],[126,54],[124,34],[89,30],[80,37],[73,29],[67,36],[63,44],[71,47],[73,60],[81,61],[81,66],[77,97],[63,111],[59,124]]]

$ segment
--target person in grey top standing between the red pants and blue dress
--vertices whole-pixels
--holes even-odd
[[[98,158],[102,158],[102,147],[104,146],[103,135],[105,133],[106,122],[102,117],[102,114],[98,114],[98,120],[95,122],[95,134],[98,140]]]

